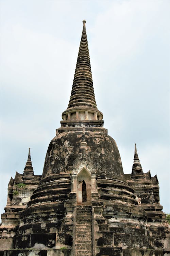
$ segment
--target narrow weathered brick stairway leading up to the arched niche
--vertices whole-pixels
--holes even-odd
[[[75,255],[92,256],[91,206],[78,205],[75,226]]]

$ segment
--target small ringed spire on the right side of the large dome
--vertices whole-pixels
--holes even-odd
[[[132,166],[132,173],[131,177],[132,179],[144,179],[145,175],[142,170],[142,166],[139,161],[137,149],[136,149],[136,143],[135,143],[135,154],[134,154],[134,159],[133,159],[133,166]]]

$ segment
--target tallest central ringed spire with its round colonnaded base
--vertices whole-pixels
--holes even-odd
[[[86,126],[84,123],[92,121],[93,127],[103,127],[103,121],[101,122],[103,119],[103,114],[97,109],[93,88],[85,24],[86,20],[83,20],[83,31],[74,73],[70,101],[67,110],[62,113],[64,122],[61,121],[61,125],[64,127],[79,127],[78,123],[80,123],[80,121],[81,123],[83,122],[83,126]],[[77,123],[76,125],[73,124],[75,122]],[[97,125],[95,123],[101,124]]]

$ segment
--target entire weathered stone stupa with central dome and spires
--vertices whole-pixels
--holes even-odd
[[[143,172],[136,144],[132,172],[124,174],[117,144],[103,128],[85,23],[70,101],[43,174],[34,174],[29,149],[23,174],[8,184],[0,255],[170,255],[157,176]]]

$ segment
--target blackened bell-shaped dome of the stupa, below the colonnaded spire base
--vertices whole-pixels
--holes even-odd
[[[118,147],[114,139],[101,132],[85,132],[88,153],[94,160],[99,177],[124,180]],[[62,132],[50,142],[43,178],[71,171],[78,155],[82,132]]]

